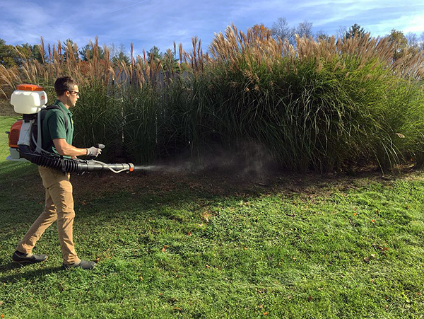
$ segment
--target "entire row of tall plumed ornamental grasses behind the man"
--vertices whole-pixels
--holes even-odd
[[[37,83],[53,96],[57,76],[71,75],[83,92],[75,110],[76,142],[104,142],[136,163],[206,151],[259,146],[283,168],[382,169],[424,161],[424,57],[399,56],[387,38],[370,35],[295,45],[266,28],[247,33],[234,25],[204,53],[174,45],[112,63],[98,40],[87,61],[78,47],[48,45],[45,63],[25,60],[0,69],[3,91]],[[40,52],[45,52],[44,43]],[[177,58],[174,58],[177,57]],[[90,125],[92,127],[90,127]],[[107,153],[107,152],[105,152]]]

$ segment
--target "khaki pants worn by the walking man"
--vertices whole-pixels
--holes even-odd
[[[31,226],[16,250],[31,253],[42,233],[57,221],[57,231],[64,264],[79,262],[72,240],[73,211],[72,185],[69,173],[61,173],[52,168],[38,167],[42,185],[46,190],[45,210]]]

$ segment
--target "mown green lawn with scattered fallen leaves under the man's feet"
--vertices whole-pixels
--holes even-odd
[[[4,318],[423,318],[422,172],[73,176],[76,249],[98,260],[83,271],[60,268],[54,226],[35,249],[46,262],[11,264],[44,190],[6,153]]]

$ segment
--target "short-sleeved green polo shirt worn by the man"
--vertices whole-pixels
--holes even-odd
[[[48,110],[42,122],[42,148],[51,153],[57,153],[53,144],[53,139],[66,139],[68,144],[72,145],[73,139],[73,120],[72,113],[66,108],[64,103],[56,100],[53,105],[58,105],[64,112],[57,109]],[[68,129],[65,127],[65,116],[68,117]],[[70,158],[71,156],[64,156]]]

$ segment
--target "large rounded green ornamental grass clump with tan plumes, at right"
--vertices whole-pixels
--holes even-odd
[[[296,40],[234,26],[216,36],[208,76],[223,101],[215,110],[223,137],[259,141],[301,171],[391,168],[422,156],[423,57],[393,61],[391,44],[368,35]]]

